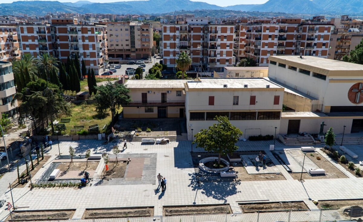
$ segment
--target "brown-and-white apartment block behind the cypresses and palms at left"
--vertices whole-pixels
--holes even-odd
[[[62,62],[76,54],[86,67],[101,74],[107,68],[106,25],[83,24],[74,18],[52,18],[51,24],[19,25],[23,53],[44,53]]]

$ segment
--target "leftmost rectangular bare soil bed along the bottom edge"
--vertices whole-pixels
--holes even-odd
[[[66,211],[25,211],[12,214],[13,221],[50,221],[50,220],[68,220],[72,219],[74,210]],[[6,219],[11,221],[11,217]]]

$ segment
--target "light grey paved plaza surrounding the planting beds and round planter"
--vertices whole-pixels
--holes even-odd
[[[76,150],[76,155],[84,154],[87,149],[92,153],[112,154],[112,147],[119,141],[102,144],[103,141],[83,140],[83,141],[61,141],[59,150],[61,155],[69,155],[68,148],[72,146]],[[119,146],[123,143],[119,142]],[[257,214],[242,214],[238,203],[241,202],[284,202],[284,201],[304,201],[311,209],[309,214],[304,212],[291,212],[290,221],[333,221],[341,219],[336,211],[325,211],[323,214],[310,200],[345,200],[363,198],[363,179],[356,178],[343,167],[334,163],[349,178],[345,179],[310,179],[301,183],[294,180],[269,151],[269,141],[251,142],[238,141],[240,147],[238,151],[260,151],[263,150],[268,157],[276,164],[276,167],[285,176],[286,180],[265,180],[265,181],[228,181],[205,183],[200,186],[197,183],[197,173],[193,167],[190,141],[171,142],[166,145],[143,145],[140,142],[132,142],[127,145],[127,149],[120,156],[122,158],[144,158],[143,174],[145,179],[140,183],[135,181],[114,180],[107,181],[103,185],[96,185],[97,181],[91,181],[93,185],[82,188],[34,188],[29,187],[14,188],[12,190],[16,207],[26,210],[46,210],[46,209],[76,209],[72,219],[81,219],[83,212],[88,208],[120,208],[120,207],[154,207],[154,217],[161,216],[163,206],[175,205],[212,205],[229,204],[233,216],[207,216],[196,215],[200,218],[197,221],[257,221]],[[286,147],[276,141],[276,150],[291,149],[298,147]],[[350,146],[347,146],[349,148]],[[354,146],[357,147],[356,145]],[[200,148],[193,148],[194,152],[203,151]],[[53,143],[53,149],[47,150],[46,155],[51,158],[32,178],[33,183],[40,179],[42,173],[50,167],[50,163],[58,156],[58,144]],[[322,151],[318,151],[324,155]],[[149,159],[146,161],[146,159]],[[95,170],[94,178],[102,172],[104,163]],[[24,160],[20,161],[20,172],[25,169]],[[156,190],[158,181],[157,173],[167,179],[166,192]],[[97,175],[98,174],[98,175]],[[154,174],[154,177],[152,176]],[[17,178],[16,167],[12,172],[6,173],[0,179],[0,200],[11,201],[8,184]],[[144,183],[145,182],[145,183]],[[310,199],[310,200],[309,200]],[[3,207],[5,209],[5,206]],[[314,211],[316,210],[316,211]],[[7,217],[8,211],[0,211],[0,221]],[[288,212],[264,213],[259,215],[259,221],[277,221],[276,218],[287,221]],[[204,217],[203,219],[202,216]],[[220,219],[218,219],[220,217]],[[314,219],[309,219],[313,218]],[[163,217],[163,221],[179,222],[177,217]],[[274,218],[274,219],[272,219]],[[318,220],[316,220],[318,218]],[[86,221],[86,220],[85,220]],[[125,219],[113,219],[108,221],[123,221]],[[133,218],[132,221],[143,221],[142,218]],[[151,221],[150,218],[145,221]],[[195,218],[183,216],[182,221],[195,221]]]

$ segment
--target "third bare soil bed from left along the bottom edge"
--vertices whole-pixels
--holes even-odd
[[[231,213],[229,205],[164,207],[163,216]]]

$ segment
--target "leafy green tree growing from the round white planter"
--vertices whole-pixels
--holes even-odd
[[[232,152],[238,149],[235,143],[242,135],[242,131],[236,126],[233,126],[228,117],[219,116],[215,117],[218,123],[214,123],[207,129],[200,130],[195,135],[193,143],[197,144],[197,147],[204,148],[208,152],[218,153],[218,164],[220,164],[221,155],[232,154]]]

